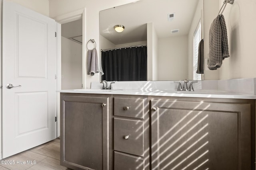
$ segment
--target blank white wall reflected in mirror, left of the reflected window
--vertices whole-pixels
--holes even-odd
[[[158,80],[188,78],[188,36],[158,39]]]

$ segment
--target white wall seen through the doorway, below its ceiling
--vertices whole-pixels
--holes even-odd
[[[82,44],[61,37],[61,90],[82,88]]]

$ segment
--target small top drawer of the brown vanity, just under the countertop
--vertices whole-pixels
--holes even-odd
[[[144,98],[114,98],[114,115],[144,119]]]

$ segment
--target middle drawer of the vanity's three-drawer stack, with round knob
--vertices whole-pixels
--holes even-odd
[[[144,156],[144,122],[115,117],[114,150]]]

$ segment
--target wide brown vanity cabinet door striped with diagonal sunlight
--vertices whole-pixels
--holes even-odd
[[[151,101],[152,170],[249,170],[250,104]]]

